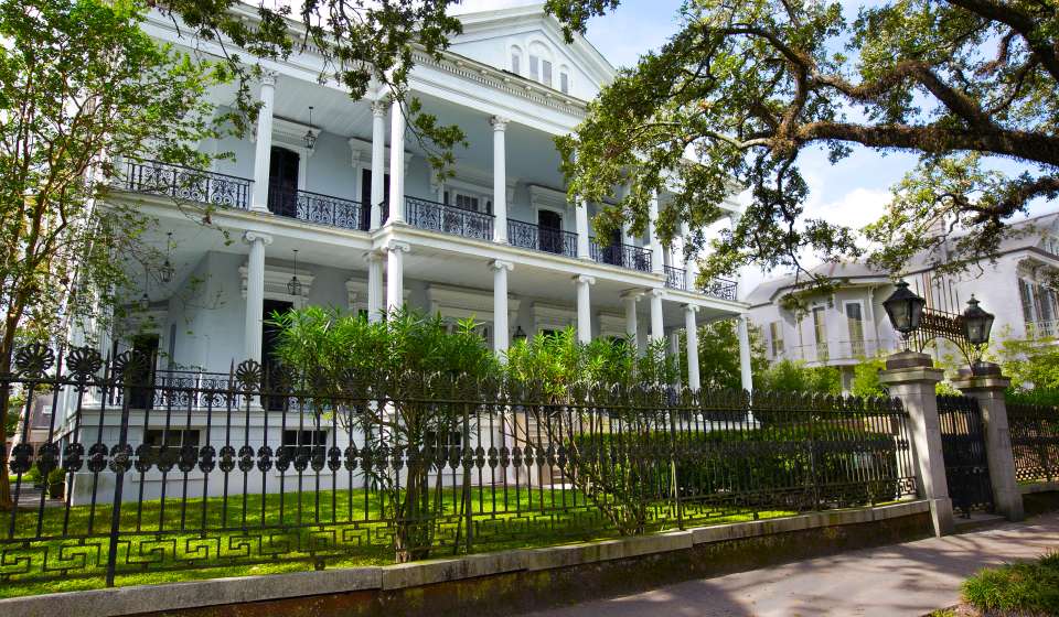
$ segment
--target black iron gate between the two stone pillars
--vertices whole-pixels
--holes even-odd
[[[978,401],[969,397],[938,397],[941,450],[945,459],[949,497],[956,511],[993,509],[993,485],[985,453],[985,433]]]

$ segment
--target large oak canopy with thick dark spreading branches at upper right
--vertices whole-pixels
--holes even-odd
[[[618,3],[547,8],[570,36]],[[807,249],[825,259],[863,252],[854,230],[805,217],[806,148],[832,161],[858,145],[921,156],[870,231],[888,268],[950,231],[971,232],[959,245],[969,257],[991,255],[1010,217],[1059,194],[1055,2],[890,0],[849,21],[834,1],[685,0],[680,23],[558,142],[571,196],[602,202],[631,185],[601,226],[625,219],[642,230],[652,192],[672,186],[659,221],[670,238],[682,220],[696,228],[718,218],[734,181],[749,187],[704,278],[750,262],[800,267]],[[1001,158],[1025,173],[986,164]],[[945,232],[924,232],[932,227]]]

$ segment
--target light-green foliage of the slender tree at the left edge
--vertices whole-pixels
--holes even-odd
[[[118,174],[113,156],[208,161],[193,144],[223,119],[204,94],[229,75],[158,45],[141,19],[131,2],[0,1],[0,372],[17,339],[98,317],[130,264],[160,261],[139,241],[150,221],[136,207],[96,207]]]

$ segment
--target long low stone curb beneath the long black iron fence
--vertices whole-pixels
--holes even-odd
[[[162,585],[114,587],[0,599],[4,617],[93,615],[118,617],[138,613],[181,610],[284,598],[364,591],[393,591],[463,581],[511,572],[534,572],[611,560],[644,556],[747,538],[807,529],[898,519],[928,512],[926,500],[855,510],[814,512],[794,517],[702,527],[643,535],[428,560],[385,566],[324,570],[213,578]]]

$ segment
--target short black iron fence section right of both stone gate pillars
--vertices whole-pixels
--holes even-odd
[[[1015,479],[1059,479],[1059,407],[1007,403]]]

